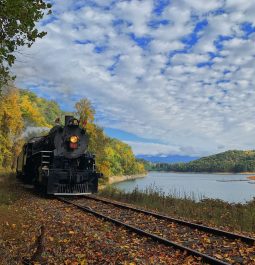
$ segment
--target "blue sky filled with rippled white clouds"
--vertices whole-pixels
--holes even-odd
[[[97,123],[136,154],[255,149],[253,0],[56,0],[17,85]]]

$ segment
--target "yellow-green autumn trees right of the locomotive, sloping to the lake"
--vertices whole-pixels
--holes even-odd
[[[129,145],[104,134],[103,128],[94,123],[95,110],[88,99],[76,103],[76,115],[89,135],[89,151],[96,155],[97,168],[105,176],[144,173]]]

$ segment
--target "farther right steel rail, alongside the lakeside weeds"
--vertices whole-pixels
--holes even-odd
[[[205,231],[205,232],[211,233],[213,235],[224,236],[224,237],[229,238],[229,239],[241,240],[242,242],[247,243],[247,244],[251,244],[251,245],[255,244],[255,238],[252,238],[252,237],[246,237],[246,236],[239,235],[236,233],[224,231],[224,230],[221,230],[218,228],[213,228],[213,227],[209,227],[209,226],[205,226],[205,225],[199,225],[199,224],[188,222],[188,221],[183,221],[183,220],[173,218],[173,217],[170,217],[167,215],[163,215],[163,214],[159,214],[159,213],[155,213],[155,212],[151,212],[151,211],[147,211],[147,210],[143,210],[143,209],[138,209],[138,208],[135,208],[133,206],[124,205],[124,204],[118,203],[118,202],[113,202],[113,201],[110,201],[108,199],[98,198],[98,197],[93,196],[93,195],[85,195],[83,197],[88,198],[88,199],[93,199],[95,201],[101,201],[104,203],[108,203],[108,204],[111,204],[114,206],[121,207],[123,209],[129,209],[129,210],[144,213],[147,215],[152,215],[152,216],[157,217],[159,219],[163,219],[163,220],[175,222],[175,223],[178,223],[178,224],[181,224],[184,226],[188,226],[191,228],[199,229],[201,231]]]

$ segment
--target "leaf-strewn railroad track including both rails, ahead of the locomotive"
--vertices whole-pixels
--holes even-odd
[[[157,242],[186,251],[209,264],[255,264],[255,239],[171,218],[94,195],[65,203]]]

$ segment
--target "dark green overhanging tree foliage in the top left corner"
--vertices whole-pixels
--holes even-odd
[[[38,31],[36,22],[50,13],[50,7],[43,0],[0,0],[0,90],[10,80],[18,48],[31,47],[46,35]]]

